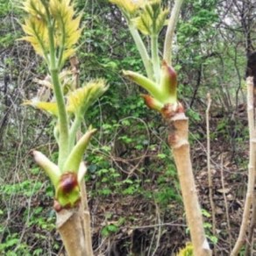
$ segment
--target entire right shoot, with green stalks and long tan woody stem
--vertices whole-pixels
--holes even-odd
[[[176,0],[171,17],[160,0],[110,0],[122,11],[129,31],[137,46],[146,75],[125,70],[124,75],[146,89],[142,95],[146,105],[160,112],[169,130],[168,143],[173,150],[174,161],[181,183],[181,194],[191,235],[194,255],[210,255],[204,230],[203,217],[196,195],[188,144],[188,117],[177,98],[177,74],[172,67],[174,29],[179,18],[182,0]],[[163,59],[161,59],[159,35],[167,24]],[[150,42],[147,47],[141,34]],[[150,49],[147,51],[147,49]],[[190,250],[190,249],[189,249]]]

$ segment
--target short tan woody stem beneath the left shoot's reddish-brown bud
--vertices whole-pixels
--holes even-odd
[[[72,209],[57,212],[57,229],[68,256],[92,256],[91,248],[86,246],[87,230],[84,230],[82,203]]]

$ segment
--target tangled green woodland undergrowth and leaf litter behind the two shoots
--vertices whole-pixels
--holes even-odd
[[[175,167],[167,160],[166,141],[160,139],[167,131],[159,115],[146,110],[138,98],[140,89],[119,73],[140,70],[139,53],[115,6],[106,0],[76,2],[85,27],[78,51],[81,78],[105,77],[110,83],[84,122],[98,129],[85,158],[95,254],[170,255],[186,244],[188,230]],[[255,13],[255,4],[246,0],[188,0],[174,44],[179,93],[190,117],[196,182],[217,255],[229,255],[245,197],[244,79],[246,54],[253,51]],[[33,79],[43,78],[46,67],[31,46],[17,40],[23,34],[18,24],[22,16],[17,2],[0,0],[0,254],[57,255],[63,248],[54,229],[53,188],[30,155],[39,149],[56,159],[53,125],[45,114],[21,106],[39,94]],[[213,100],[215,235],[206,169],[207,92]]]

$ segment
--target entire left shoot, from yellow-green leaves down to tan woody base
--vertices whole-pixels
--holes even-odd
[[[35,161],[49,176],[55,189],[54,210],[57,228],[68,255],[93,255],[89,210],[84,191],[83,177],[86,167],[82,157],[96,129],[88,131],[78,141],[76,133],[89,106],[107,89],[103,79],[83,83],[78,88],[76,43],[80,39],[82,15],[75,12],[70,0],[26,0],[22,8],[27,13],[22,28],[25,37],[46,62],[46,79],[37,80],[53,96],[46,101],[35,97],[26,101],[53,116],[53,134],[58,145],[58,163],[46,155],[33,151]],[[71,69],[62,69],[71,60]]]

